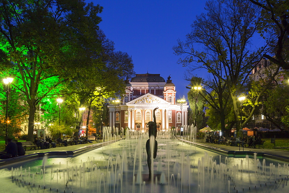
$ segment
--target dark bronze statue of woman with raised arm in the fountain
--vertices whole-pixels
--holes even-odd
[[[150,121],[148,123],[149,126],[149,138],[151,136],[154,136],[154,138],[157,138],[157,122],[155,120],[155,110],[157,110],[159,107],[156,107],[153,110],[153,121]],[[146,150],[147,150],[147,166],[149,167],[149,179],[151,179],[151,146],[150,146],[150,139],[147,140],[146,143]],[[155,159],[157,157],[157,151],[158,151],[158,142],[154,141],[154,147],[153,147],[153,158]]]

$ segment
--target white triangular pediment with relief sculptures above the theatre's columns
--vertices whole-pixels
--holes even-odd
[[[171,103],[169,103],[168,101],[155,96],[154,94],[151,93],[147,93],[144,94],[132,101],[129,101],[128,103],[126,103],[127,105],[140,105],[140,104],[168,104],[170,105]]]

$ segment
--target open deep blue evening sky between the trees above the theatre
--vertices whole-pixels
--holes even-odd
[[[120,1],[86,0],[103,6],[99,24],[106,36],[114,41],[116,51],[127,52],[137,74],[160,74],[165,80],[171,75],[176,86],[176,99],[185,95],[188,82],[186,67],[177,64],[179,56],[172,47],[177,39],[185,40],[196,15],[204,12],[205,1]],[[207,73],[196,72],[205,78]]]

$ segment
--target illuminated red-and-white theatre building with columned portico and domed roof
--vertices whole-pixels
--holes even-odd
[[[160,74],[136,74],[126,80],[125,95],[109,108],[109,125],[112,127],[147,130],[155,111],[157,129],[180,128],[187,125],[188,105],[177,103],[176,87],[169,76],[167,81]]]

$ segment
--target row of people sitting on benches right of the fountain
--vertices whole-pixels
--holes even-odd
[[[221,142],[226,141],[225,137],[223,136],[208,136],[206,138],[206,142],[208,143],[216,143],[216,144],[220,144]],[[256,144],[261,143],[261,138],[260,136],[255,139],[255,136],[250,136],[248,138],[248,136],[244,136],[241,140],[239,138],[236,138],[234,136],[231,136],[231,138],[229,138],[227,140],[227,145],[230,146],[244,146],[244,144],[248,144],[249,148],[256,148]]]

